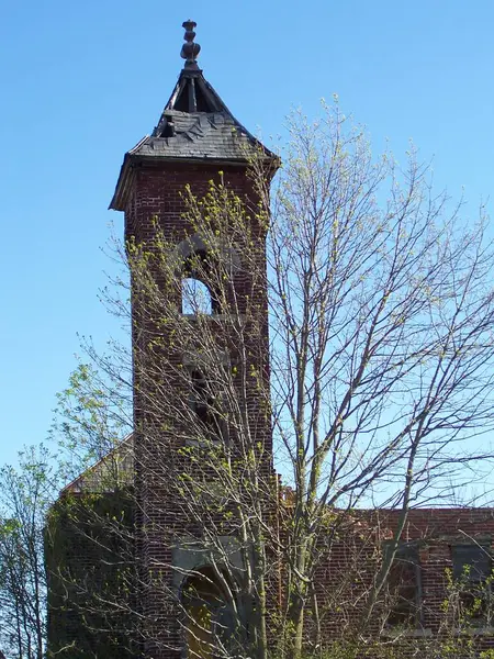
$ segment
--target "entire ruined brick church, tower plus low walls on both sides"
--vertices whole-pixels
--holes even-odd
[[[204,79],[195,23],[183,26],[184,68],[153,134],[125,154],[110,206],[125,213],[134,433],[69,483],[48,515],[49,656],[255,657],[266,629],[265,648],[276,640],[276,604],[287,596],[281,524],[269,543],[281,496],[272,466],[266,198],[278,158]],[[261,170],[261,188],[252,169]],[[323,526],[317,538],[313,583],[325,615],[322,640],[351,650],[345,641],[368,615],[367,595],[403,527],[402,510],[334,513],[328,537]],[[382,611],[378,603],[363,634],[412,657],[435,638],[451,647],[442,630],[450,618],[451,638],[467,639],[469,657],[472,648],[492,650],[494,510],[418,507],[401,533]],[[446,570],[460,579],[457,604],[481,603],[471,607],[470,628],[460,618],[458,629],[445,610]]]

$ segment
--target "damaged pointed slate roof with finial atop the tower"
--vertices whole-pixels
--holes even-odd
[[[249,146],[261,148],[277,168],[278,157],[260,144],[238,122],[218,93],[204,78],[197,57],[201,46],[194,42],[195,23],[186,21],[186,43],[181,56],[186,65],[151,135],[125,154],[110,208],[125,210],[137,163],[154,160],[212,161],[245,164]]]

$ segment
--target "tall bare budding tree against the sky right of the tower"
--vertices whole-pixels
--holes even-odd
[[[451,500],[487,467],[492,245],[412,149],[373,160],[338,108],[295,114],[271,209],[272,398],[294,489],[294,649],[329,507]],[[266,199],[266,208],[268,200]],[[267,211],[266,211],[267,212]],[[369,592],[369,617],[393,551]]]

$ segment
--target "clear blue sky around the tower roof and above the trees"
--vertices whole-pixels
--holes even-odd
[[[476,0],[20,0],[0,7],[0,463],[45,438],[77,333],[115,327],[98,301],[123,154],[200,63],[251,131],[282,132],[337,92],[378,148],[413,137],[438,186],[475,214],[493,186],[494,2]],[[491,204],[492,210],[492,204]]]

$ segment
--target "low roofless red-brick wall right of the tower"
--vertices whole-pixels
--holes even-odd
[[[315,585],[324,643],[363,634],[380,640],[382,648],[388,646],[395,652],[390,656],[396,657],[415,656],[419,648],[423,656],[428,657],[426,652],[439,648],[447,638],[457,639],[458,647],[474,643],[476,651],[492,649],[494,629],[491,621],[467,621],[464,629],[468,630],[460,632],[456,619],[447,619],[450,614],[445,613],[445,604],[451,596],[453,547],[482,546],[487,554],[494,549],[493,509],[409,511],[401,546],[416,548],[419,581],[416,584],[416,617],[402,626],[386,623],[391,619],[393,604],[385,600],[384,590],[370,619],[363,622],[367,595],[382,565],[384,547],[396,530],[398,517],[400,511],[357,511],[348,515],[344,529],[329,532],[332,537],[322,541],[321,550],[325,557],[317,569]],[[311,634],[311,617],[307,634]]]

